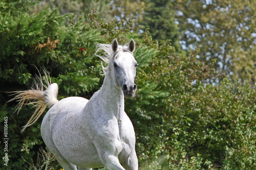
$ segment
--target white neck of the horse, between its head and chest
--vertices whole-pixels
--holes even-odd
[[[100,88],[99,95],[102,107],[109,114],[114,114],[120,119],[124,112],[124,95],[120,87],[116,87],[113,74],[108,70]]]

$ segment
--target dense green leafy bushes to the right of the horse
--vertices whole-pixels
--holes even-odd
[[[138,72],[137,95],[125,101],[142,169],[255,168],[256,92],[250,84],[207,85],[218,76],[197,52],[180,56],[168,43],[151,44],[156,53]]]

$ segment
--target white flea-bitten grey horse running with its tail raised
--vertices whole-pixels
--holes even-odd
[[[97,47],[97,52],[105,51],[99,57],[109,65],[102,87],[90,100],[69,97],[58,101],[56,83],[49,83],[45,91],[18,91],[14,99],[19,99],[18,109],[28,100],[38,99],[32,102],[38,108],[25,128],[35,123],[46,106],[50,107],[42,120],[41,136],[65,170],[77,169],[76,166],[138,169],[135,132],[124,112],[124,96],[134,96],[137,90],[135,42],[131,39],[128,46],[121,46],[114,39],[112,44]]]

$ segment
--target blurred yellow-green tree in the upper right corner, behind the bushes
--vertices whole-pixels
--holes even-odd
[[[200,60],[232,78],[250,80],[255,71],[255,1],[172,1],[183,45],[200,48]]]

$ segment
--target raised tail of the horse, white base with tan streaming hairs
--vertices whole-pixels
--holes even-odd
[[[46,87],[44,84],[42,84],[42,81],[40,79],[39,86],[37,85],[36,89],[32,90],[25,90],[25,91],[14,91],[15,93],[13,95],[16,95],[12,100],[17,100],[19,103],[16,106],[16,110],[18,111],[25,105],[34,105],[36,108],[35,112],[29,119],[28,123],[23,127],[22,132],[24,130],[33,125],[36,120],[41,116],[42,113],[44,113],[46,107],[48,106],[51,108],[55,103],[58,102],[57,95],[58,95],[58,85],[56,83],[50,84],[47,81],[48,87],[44,91],[43,87]],[[29,102],[32,100],[31,102]],[[9,101],[9,102],[10,102]],[[28,103],[29,102],[29,103]]]

